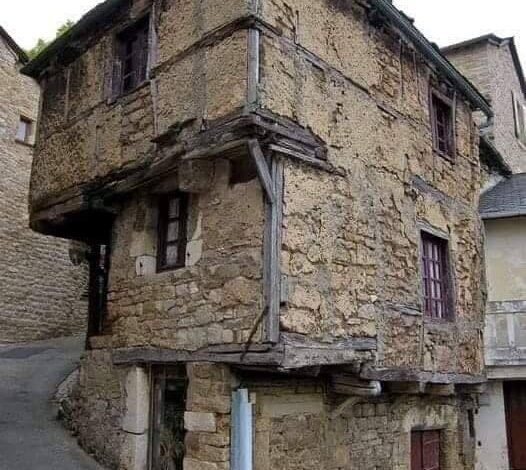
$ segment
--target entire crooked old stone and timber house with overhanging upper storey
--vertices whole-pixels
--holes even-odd
[[[91,245],[109,468],[472,469],[484,97],[387,0],[108,0],[24,68]]]

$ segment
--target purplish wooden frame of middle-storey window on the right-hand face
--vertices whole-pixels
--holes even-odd
[[[434,242],[438,245],[439,254],[438,259],[429,259],[426,252],[426,246],[429,242]],[[451,271],[451,252],[449,240],[430,230],[420,231],[420,280],[422,285],[422,299],[423,299],[423,315],[426,320],[433,322],[452,322],[455,320],[454,308],[454,282]],[[439,272],[440,277],[435,278],[430,271],[430,263],[435,263],[435,270]],[[436,266],[436,263],[439,263]],[[432,283],[438,282],[439,289],[444,294],[440,297],[431,297],[433,292]],[[436,286],[435,286],[436,287]],[[433,302],[436,302],[435,309],[433,309]],[[438,305],[441,305],[442,313],[438,314]]]

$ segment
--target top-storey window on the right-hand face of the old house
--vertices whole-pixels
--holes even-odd
[[[431,126],[433,147],[441,155],[453,157],[455,154],[455,126],[453,105],[436,92],[431,93]]]

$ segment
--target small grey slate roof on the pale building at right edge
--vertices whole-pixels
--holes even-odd
[[[483,219],[505,219],[526,215],[526,173],[501,181],[480,197]]]

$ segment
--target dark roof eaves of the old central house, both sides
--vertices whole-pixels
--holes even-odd
[[[378,13],[393,23],[400,29],[402,34],[415,44],[415,47],[422,55],[432,62],[437,70],[444,74],[476,109],[480,109],[488,116],[493,115],[491,106],[484,96],[441,54],[436,45],[429,42],[415,27],[411,18],[398,10],[391,0],[369,1]],[[100,31],[108,24],[111,24],[112,18],[114,18],[120,8],[128,3],[129,0],[106,0],[100,3],[84,15],[66,34],[57,38],[38,57],[26,65],[22,72],[33,78],[39,78],[40,74],[57,55],[66,51],[70,54],[73,53],[73,55],[81,53],[81,39],[84,38],[85,40],[85,37],[93,34],[94,31]]]

